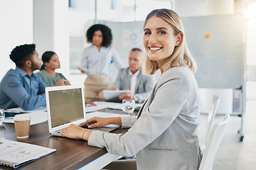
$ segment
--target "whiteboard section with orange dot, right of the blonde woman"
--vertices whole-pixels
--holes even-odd
[[[188,49],[198,63],[201,88],[235,89],[242,85],[242,16],[181,18]]]

